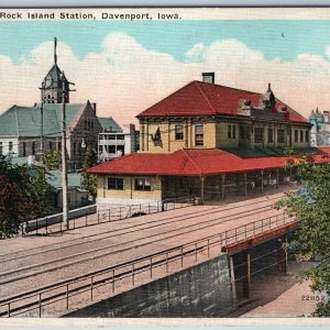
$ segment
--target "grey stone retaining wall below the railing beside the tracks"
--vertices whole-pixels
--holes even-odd
[[[228,258],[221,255],[65,317],[219,317],[231,308]]]

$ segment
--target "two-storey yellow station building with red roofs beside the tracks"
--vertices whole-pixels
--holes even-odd
[[[89,168],[98,202],[139,204],[193,195],[202,201],[249,195],[292,179],[287,147],[329,162],[310,148],[310,123],[275,98],[215,84],[202,74],[138,116],[141,152]]]

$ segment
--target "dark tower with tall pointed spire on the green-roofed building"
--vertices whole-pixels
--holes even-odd
[[[54,65],[44,78],[41,87],[41,96],[43,103],[62,103],[63,81],[65,84],[65,103],[69,102],[69,82],[64,72],[57,66],[56,55],[57,40],[54,38]]]

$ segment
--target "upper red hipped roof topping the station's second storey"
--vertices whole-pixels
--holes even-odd
[[[262,99],[262,94],[191,81],[140,113],[138,118],[155,116],[238,116],[244,100],[250,100],[252,107],[260,107]],[[287,106],[276,99],[275,111],[282,107]],[[287,121],[307,123],[307,120],[294,109],[287,107]]]

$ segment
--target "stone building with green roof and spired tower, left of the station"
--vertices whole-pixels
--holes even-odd
[[[56,38],[54,65],[41,84],[41,102],[33,107],[12,106],[0,114],[0,154],[10,157],[42,156],[61,152],[63,97],[66,112],[68,169],[81,167],[84,146],[98,150],[102,132],[96,103],[69,102],[69,81],[57,65]]]

